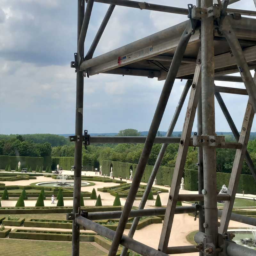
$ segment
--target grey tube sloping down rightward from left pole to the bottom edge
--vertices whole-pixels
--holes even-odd
[[[103,225],[100,225],[92,220],[88,220],[82,216],[79,216],[76,218],[76,223],[78,225],[83,226],[86,229],[93,230],[100,234],[101,236],[105,236],[110,240],[113,240],[115,236],[115,231],[104,227]],[[168,256],[168,254],[165,254],[164,252],[157,251],[156,249],[149,247],[145,244],[142,244],[136,240],[133,240],[132,238],[128,236],[122,236],[120,244],[124,245],[125,247],[131,249],[134,252],[137,252],[143,256]]]

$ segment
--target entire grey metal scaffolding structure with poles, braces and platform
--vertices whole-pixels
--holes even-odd
[[[77,53],[71,67],[76,68],[76,135],[75,142],[74,203],[73,212],[67,214],[73,220],[72,255],[79,255],[80,225],[111,239],[108,255],[116,255],[119,244],[123,245],[122,256],[128,249],[143,256],[166,256],[167,254],[199,252],[203,255],[252,256],[256,251],[232,242],[227,232],[229,220],[256,226],[256,219],[232,213],[239,177],[244,159],[256,180],[256,169],[247,152],[252,121],[256,111],[256,75],[250,70],[256,67],[256,19],[241,15],[256,16],[255,11],[228,8],[228,4],[239,0],[197,0],[197,5],[188,4],[188,9],[130,0],[78,0]],[[252,1],[252,0],[251,0]],[[256,0],[253,0],[256,6]],[[84,41],[89,25],[93,3],[110,4],[92,45],[84,57]],[[164,29],[153,35],[127,44],[111,52],[93,58],[100,37],[114,11],[115,5],[188,15],[188,20]],[[241,76],[228,76],[239,72]],[[84,76],[99,73],[157,77],[165,80],[164,86],[150,125],[147,137],[91,137],[83,135]],[[256,72],[255,72],[256,73]],[[176,78],[186,79],[166,137],[156,137],[164,110]],[[246,89],[215,86],[214,80],[243,82]],[[180,115],[185,98],[189,94],[188,107],[181,137],[170,137]],[[243,125],[239,133],[220,92],[248,95]],[[224,136],[215,133],[214,96],[226,117],[237,142],[225,142]],[[198,131],[191,138],[192,126],[197,111]],[[123,211],[80,211],[82,147],[91,143],[144,143]],[[138,191],[152,146],[162,147],[148,180],[138,210],[132,205]],[[144,209],[148,194],[169,143],[179,143],[178,156],[173,172],[172,184],[166,208]],[[198,194],[179,195],[180,182],[185,166],[188,147],[198,147]],[[217,195],[216,148],[235,148],[236,156],[226,195]],[[176,208],[179,200],[199,201],[192,206]],[[222,211],[217,202],[225,201]],[[196,246],[168,247],[174,214],[195,213],[199,217],[199,232],[195,236]],[[164,215],[164,223],[158,250],[132,239],[142,216]],[[124,228],[129,217],[135,217],[128,236]],[[220,222],[218,221],[220,217]],[[108,218],[120,218],[116,231],[93,222]]]

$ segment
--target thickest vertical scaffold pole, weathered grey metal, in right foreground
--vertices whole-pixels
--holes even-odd
[[[202,0],[201,7],[212,6],[212,0]],[[201,20],[201,50],[202,50],[202,126],[203,135],[215,135],[214,110],[214,44],[213,17]],[[216,184],[216,148],[203,146],[204,162],[204,213],[205,237],[204,249],[213,248],[212,255],[218,255],[218,209]]]

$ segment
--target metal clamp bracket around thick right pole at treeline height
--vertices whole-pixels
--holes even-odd
[[[210,147],[220,147],[225,145],[224,136],[214,136],[214,135],[194,135],[193,136],[193,146],[210,146]]]

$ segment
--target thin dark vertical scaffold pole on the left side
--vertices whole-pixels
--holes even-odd
[[[77,44],[84,20],[84,0],[78,0],[77,5]],[[84,50],[82,51],[84,56]],[[77,68],[76,73],[76,136],[83,135],[83,105],[84,105],[84,76],[83,71]],[[82,138],[82,137],[80,137]],[[83,140],[75,142],[75,170],[74,170],[74,199],[73,213],[78,213],[81,194],[81,171],[82,171],[82,147]],[[72,256],[79,256],[80,227],[73,220],[72,226]]]

